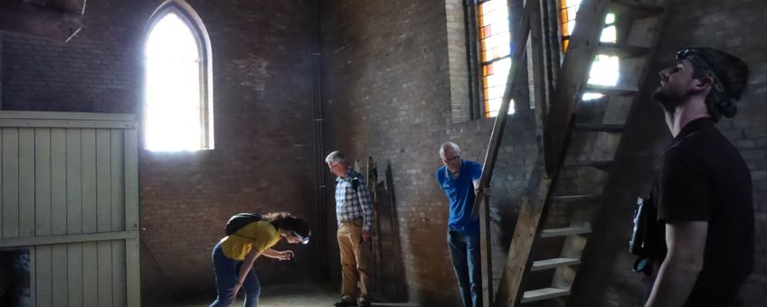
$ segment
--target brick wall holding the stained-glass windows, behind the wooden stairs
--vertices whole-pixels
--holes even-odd
[[[762,90],[765,79],[760,77],[767,67],[760,54],[767,45],[753,30],[759,29],[756,23],[763,17],[765,5],[754,1],[699,3],[691,9],[685,1],[674,1],[658,54],[668,60],[682,45],[713,45],[752,64],[751,93],[743,100],[741,115],[719,126],[752,169],[757,259],[767,258],[761,243],[767,234],[762,204],[763,145],[767,144],[762,137],[767,128],[760,124],[763,107],[756,105],[767,92]],[[452,71],[459,58],[451,44],[451,40],[459,40],[450,36],[459,32],[453,24],[457,14],[451,11],[455,4],[334,2],[327,4],[323,14],[326,148],[345,150],[353,159],[373,155],[379,162],[392,163],[408,290],[413,302],[429,306],[459,303],[445,247],[448,208],[433,180],[433,172],[440,166],[437,147],[444,140],[453,140],[461,145],[466,158],[481,162],[492,126],[489,120],[460,122],[463,119],[451,113],[456,109],[455,95],[460,93],[454,87],[462,77]],[[650,70],[645,97],[658,83],[655,71],[660,67],[655,63]],[[517,106],[526,103],[525,97],[516,99]],[[606,187],[604,209],[570,302],[573,306],[639,306],[646,294],[645,282],[630,271],[634,258],[626,252],[626,245],[633,204],[638,195],[649,191],[655,171],[649,166],[657,168],[670,141],[655,103],[640,99],[623,140],[613,172],[620,175],[613,175]],[[506,260],[519,196],[535,167],[534,120],[526,109],[517,107],[517,114],[510,117],[501,150],[491,207],[495,274],[500,274]],[[743,289],[747,306],[763,302],[764,294],[757,289],[764,284],[765,264],[758,260],[756,272]]]

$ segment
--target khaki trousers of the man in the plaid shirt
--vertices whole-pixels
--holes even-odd
[[[356,298],[356,284],[359,280],[360,301],[370,302],[367,293],[367,264],[370,254],[365,249],[365,243],[362,241],[363,219],[355,219],[350,222],[341,222],[338,226],[338,247],[341,250],[341,274],[343,282],[341,284],[341,294],[344,300],[354,302]],[[359,277],[359,278],[357,278]]]

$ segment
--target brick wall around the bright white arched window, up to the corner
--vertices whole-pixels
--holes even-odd
[[[5,34],[3,108],[140,112],[146,23],[162,1],[92,1],[69,43]],[[214,294],[210,253],[239,211],[314,214],[309,6],[306,1],[189,1],[213,45],[216,149],[140,153],[141,265],[156,293]],[[308,278],[262,259],[264,285]],[[289,276],[289,277],[287,277]]]

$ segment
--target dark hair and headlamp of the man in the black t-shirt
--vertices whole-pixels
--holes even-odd
[[[688,57],[699,58],[705,63],[703,66],[707,66],[695,67],[694,78],[706,77],[708,73],[705,70],[713,70],[715,76],[710,77],[715,77],[715,82],[721,83],[721,87],[718,87],[721,89],[716,90],[717,87],[713,87],[705,98],[708,114],[714,121],[718,121],[721,116],[735,116],[738,112],[738,100],[748,84],[748,65],[732,54],[712,48],[687,48],[677,52],[677,60]],[[691,62],[695,66],[696,60]]]

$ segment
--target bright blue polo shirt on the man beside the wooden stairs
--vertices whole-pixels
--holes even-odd
[[[450,178],[450,173],[442,165],[437,173],[437,182],[450,200],[450,218],[448,226],[455,230],[479,231],[479,219],[471,219],[474,208],[474,184],[472,181],[482,177],[482,165],[473,161],[461,160],[458,178]]]

